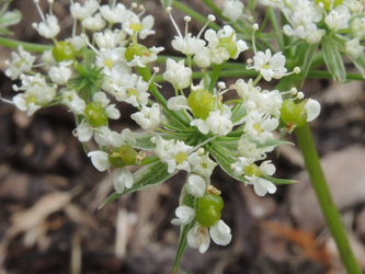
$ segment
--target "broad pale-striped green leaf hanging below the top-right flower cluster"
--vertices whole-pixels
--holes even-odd
[[[346,80],[346,70],[344,68],[342,57],[337,42],[333,37],[322,38],[322,49],[326,65],[334,80],[344,82]]]

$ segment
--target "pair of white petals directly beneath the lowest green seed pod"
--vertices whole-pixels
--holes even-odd
[[[196,224],[187,232],[187,244],[191,248],[198,249],[201,253],[205,253],[209,248],[210,237],[212,240],[219,246],[227,246],[232,239],[230,228],[223,220],[218,220],[217,224],[209,229]]]

